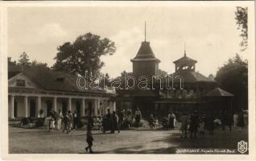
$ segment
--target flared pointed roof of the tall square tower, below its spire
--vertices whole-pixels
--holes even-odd
[[[150,42],[144,41],[138,49],[137,55],[131,61],[136,60],[155,60],[160,62],[159,59],[155,57],[154,52],[151,49]]]

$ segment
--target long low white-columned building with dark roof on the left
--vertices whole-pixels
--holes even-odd
[[[114,91],[79,89],[76,75],[8,63],[9,118],[45,118],[51,110],[98,116],[115,110]]]

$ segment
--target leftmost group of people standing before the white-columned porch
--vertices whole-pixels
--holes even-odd
[[[50,115],[45,118],[45,125],[47,126],[48,131],[52,131],[54,129],[61,130],[62,122],[64,122],[63,132],[69,133],[72,129],[77,129],[78,116],[76,114],[76,110],[74,113],[71,113],[69,110],[64,115],[61,110],[56,113],[56,111],[52,110]]]

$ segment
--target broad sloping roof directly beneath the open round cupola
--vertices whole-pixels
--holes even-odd
[[[194,71],[177,71],[174,72],[171,76],[181,76],[184,80],[184,83],[194,83],[194,82],[212,82],[217,83],[214,80],[209,79],[209,77],[206,77],[200,72],[194,72]],[[174,81],[180,81],[179,79],[174,79]]]

